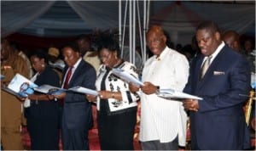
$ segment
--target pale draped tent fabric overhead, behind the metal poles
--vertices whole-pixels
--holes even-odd
[[[124,5],[122,1],[122,14]],[[174,42],[190,42],[201,20],[213,20],[224,31],[255,36],[255,2],[150,1],[150,24],[162,25]],[[19,32],[64,37],[109,28],[119,28],[119,1],[1,1],[1,36]]]

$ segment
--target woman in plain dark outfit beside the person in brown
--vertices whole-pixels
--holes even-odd
[[[33,81],[60,87],[59,76],[48,66],[47,54],[37,50],[32,54],[32,67],[36,70]],[[52,96],[34,92],[26,98],[25,116],[32,150],[59,150],[59,103]]]

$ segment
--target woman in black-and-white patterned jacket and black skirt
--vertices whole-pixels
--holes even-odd
[[[87,95],[96,101],[97,122],[102,150],[133,150],[133,135],[137,122],[137,93],[129,91],[129,84],[113,75],[113,68],[125,70],[138,78],[134,64],[119,58],[119,44],[111,34],[98,41],[102,66],[97,73],[96,89],[99,97]]]

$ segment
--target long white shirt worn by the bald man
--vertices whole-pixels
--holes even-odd
[[[161,88],[183,91],[189,77],[189,62],[180,53],[165,48],[156,59],[154,55],[143,68],[143,82],[150,81]],[[178,143],[185,146],[187,115],[183,103],[177,100],[160,98],[156,94],[141,95],[140,141],[160,140],[160,143],[172,142],[178,135]]]

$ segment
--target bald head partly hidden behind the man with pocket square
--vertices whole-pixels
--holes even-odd
[[[236,52],[239,52],[239,35],[236,31],[225,31],[222,36],[223,41]]]

